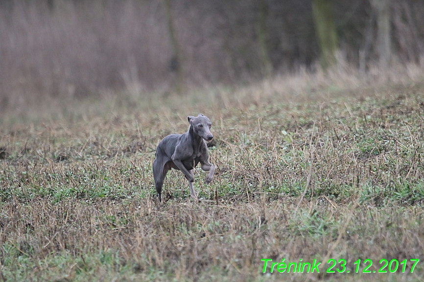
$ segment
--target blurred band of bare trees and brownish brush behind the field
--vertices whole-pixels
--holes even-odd
[[[423,22],[422,0],[0,0],[0,99],[424,64]]]

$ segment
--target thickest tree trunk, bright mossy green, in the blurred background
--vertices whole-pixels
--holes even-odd
[[[324,69],[336,63],[338,40],[332,9],[332,0],[312,0],[315,32],[321,52],[320,63]]]

